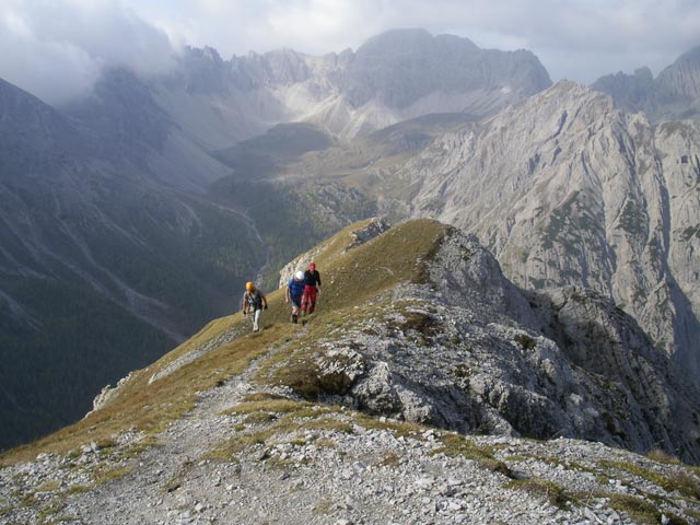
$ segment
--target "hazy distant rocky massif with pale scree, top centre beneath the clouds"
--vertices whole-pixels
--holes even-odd
[[[431,113],[490,115],[550,84],[529,51],[400,30],[323,57],[279,50],[225,61],[189,49],[153,89],[178,126],[220,149],[280,122],[312,121],[347,139]]]

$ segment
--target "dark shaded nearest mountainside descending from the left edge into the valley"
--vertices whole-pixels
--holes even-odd
[[[224,224],[245,222],[159,184],[140,159],[148,144],[128,132],[104,142],[4,83],[0,107],[8,444],[75,418],[105,382],[226,307],[221,290],[236,282],[228,269],[235,262],[218,268],[215,245],[229,236]],[[225,244],[244,261],[261,257],[242,230]]]

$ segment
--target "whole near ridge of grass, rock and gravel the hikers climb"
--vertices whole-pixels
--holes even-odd
[[[305,323],[271,292],[261,331],[212,320],[81,422],[5,454],[3,517],[700,515],[697,470],[669,455],[700,460],[700,395],[608,301],[520,290],[474,236],[428,220],[358,223],[295,265],[311,257],[324,289]]]

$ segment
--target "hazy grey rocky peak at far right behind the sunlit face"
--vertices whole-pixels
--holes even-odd
[[[603,77],[592,88],[608,93],[625,110],[644,112],[654,122],[695,117],[700,114],[700,47],[681,55],[656,79],[641,68],[633,75]]]

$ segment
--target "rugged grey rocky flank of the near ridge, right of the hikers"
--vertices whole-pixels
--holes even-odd
[[[341,338],[318,341],[329,349],[322,376],[345,376],[331,399],[467,433],[575,436],[700,459],[700,393],[610,301],[579,288],[522,292],[455,230],[430,280],[397,288],[394,313],[371,311]]]

